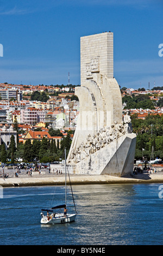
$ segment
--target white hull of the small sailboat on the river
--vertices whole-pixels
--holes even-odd
[[[55,215],[55,217],[43,216],[41,218],[41,224],[64,224],[75,221],[77,214],[67,214],[65,217],[63,214]]]

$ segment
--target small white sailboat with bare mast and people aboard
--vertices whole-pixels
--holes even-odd
[[[57,205],[50,209],[41,209],[41,224],[63,224],[63,223],[75,221],[76,219],[77,210],[76,210],[76,205],[74,203],[71,181],[70,181],[71,193],[72,193],[74,208],[76,212],[74,214],[67,214],[67,208],[66,208],[67,206],[67,184],[66,184],[67,171],[66,169],[67,168],[66,168],[66,149],[65,149],[65,204]],[[68,177],[70,180],[69,173],[68,173]],[[59,212],[57,211],[58,209],[60,209]],[[64,210],[61,210],[61,209],[64,209]],[[42,212],[47,212],[47,215],[44,215]]]

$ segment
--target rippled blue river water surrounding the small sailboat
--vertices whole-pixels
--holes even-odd
[[[40,212],[64,203],[64,186],[3,188],[1,245],[162,245],[161,184],[76,185],[75,222],[40,223]],[[71,190],[68,212],[73,211]]]

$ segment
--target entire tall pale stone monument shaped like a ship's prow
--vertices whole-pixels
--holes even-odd
[[[113,33],[80,38],[80,57],[80,113],[67,163],[77,174],[127,176],[133,172],[136,135],[128,113],[122,117]]]

